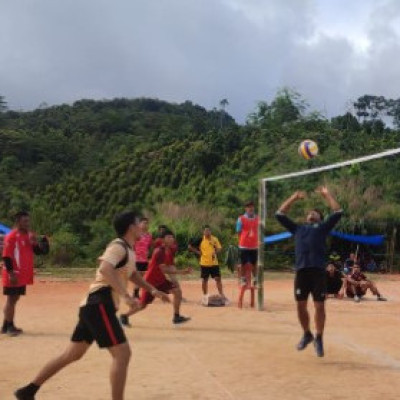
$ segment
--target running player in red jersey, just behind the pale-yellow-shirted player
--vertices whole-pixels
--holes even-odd
[[[165,274],[168,275],[186,275],[191,272],[190,268],[178,271],[175,267],[173,246],[175,244],[175,237],[171,231],[165,231],[163,234],[163,243],[159,245],[153,252],[149,268],[144,275],[145,281],[154,286],[157,290],[164,293],[171,293],[173,295],[174,317],[172,322],[174,324],[181,324],[190,320],[189,317],[180,315],[180,307],[182,303],[182,290],[175,282],[167,279]],[[148,304],[152,303],[154,296],[151,292],[146,290],[142,291],[140,296],[140,307],[137,309],[129,310],[126,314],[121,314],[121,322],[126,321],[130,315],[143,310]],[[124,323],[123,323],[124,324]],[[124,324],[127,325],[127,324]]]

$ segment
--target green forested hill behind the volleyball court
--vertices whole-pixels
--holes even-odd
[[[182,241],[205,222],[228,240],[243,200],[257,198],[259,177],[398,147],[396,120],[385,126],[371,111],[376,97],[365,98],[355,115],[327,120],[282,90],[270,104],[259,103],[245,125],[224,110],[227,102],[212,111],[155,99],[3,109],[0,221],[30,210],[38,231],[70,244],[67,259],[96,254],[112,234],[112,215],[132,207],[172,225]],[[306,138],[320,147],[311,163],[297,153]],[[343,228],[397,223],[399,165],[391,158],[276,184],[270,210],[299,184],[311,190],[328,183],[351,214]],[[277,229],[271,221],[268,230]]]

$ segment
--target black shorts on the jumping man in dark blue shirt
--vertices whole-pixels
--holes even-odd
[[[296,272],[294,280],[294,297],[304,301],[312,295],[314,301],[325,301],[326,272],[322,268],[303,268]]]

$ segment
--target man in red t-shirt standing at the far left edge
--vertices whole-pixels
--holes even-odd
[[[1,333],[17,336],[22,329],[14,325],[15,308],[26,286],[33,284],[33,254],[47,254],[49,244],[45,237],[39,241],[29,231],[29,214],[20,211],[15,215],[15,228],[4,238],[3,294],[7,296]]]

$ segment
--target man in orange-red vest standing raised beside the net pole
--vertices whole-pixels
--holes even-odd
[[[244,278],[244,268],[246,265],[251,266],[253,280],[256,280],[258,257],[258,216],[254,212],[254,203],[252,201],[246,202],[244,206],[245,213],[236,222],[241,264],[238,273],[242,285],[246,285]]]

